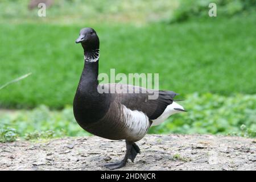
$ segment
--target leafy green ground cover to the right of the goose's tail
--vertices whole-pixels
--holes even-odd
[[[256,137],[256,95],[191,94],[180,103],[187,113],[175,114],[150,133],[232,134]]]

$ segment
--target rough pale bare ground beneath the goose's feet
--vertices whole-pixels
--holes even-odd
[[[147,135],[121,170],[256,170],[256,140],[216,135]],[[125,142],[99,137],[0,143],[0,170],[105,170]]]

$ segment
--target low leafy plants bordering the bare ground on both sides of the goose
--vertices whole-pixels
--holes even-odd
[[[187,113],[175,114],[159,126],[150,128],[154,134],[221,134],[256,137],[256,94],[220,96],[190,94],[180,102]],[[46,106],[33,110],[0,113],[0,142],[17,137],[31,140],[64,136],[85,136],[76,123],[71,106],[51,111]]]

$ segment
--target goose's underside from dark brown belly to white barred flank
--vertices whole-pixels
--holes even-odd
[[[112,104],[102,119],[83,128],[98,137],[136,142],[146,135],[150,125],[147,115],[141,111]]]

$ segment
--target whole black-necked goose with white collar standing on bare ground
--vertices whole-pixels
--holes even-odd
[[[185,110],[175,102],[177,93],[172,91],[125,84],[98,84],[100,40],[96,31],[89,27],[82,28],[76,43],[81,43],[84,49],[84,68],[73,100],[75,119],[82,129],[93,135],[125,140],[126,153],[121,162],[105,165],[109,169],[121,168],[128,159],[134,162],[140,152],[135,142],[141,140],[151,126],[159,125],[170,115]],[[118,86],[127,92],[100,93],[99,86],[104,90]],[[152,92],[158,93],[157,99],[148,99]]]

